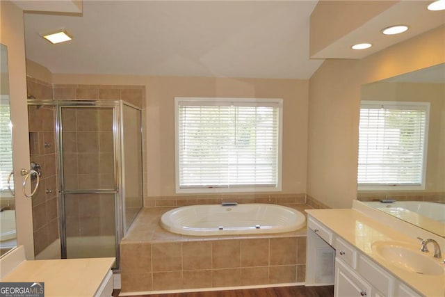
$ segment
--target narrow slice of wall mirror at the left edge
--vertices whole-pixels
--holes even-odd
[[[17,246],[8,49],[0,45],[0,256]]]

